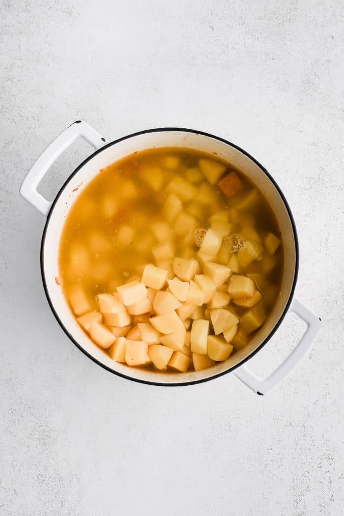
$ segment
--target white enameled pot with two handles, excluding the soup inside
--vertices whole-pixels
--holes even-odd
[[[44,174],[77,138],[84,138],[95,149],[84,163],[69,176],[53,202],[48,202],[37,191]],[[114,362],[81,330],[65,301],[59,276],[58,251],[63,222],[80,192],[104,167],[132,154],[154,147],[184,147],[216,153],[243,170],[263,191],[280,224],[284,249],[284,273],[281,294],[265,324],[254,335],[249,345],[225,362],[199,372],[179,374],[158,373],[128,367]],[[298,275],[298,239],[290,208],[271,175],[247,152],[222,138],[207,133],[179,128],[160,128],[125,136],[110,143],[83,121],[76,121],[61,133],[37,159],[26,175],[21,195],[47,217],[41,246],[41,270],[45,293],[60,326],[74,344],[94,362],[124,378],[155,385],[188,385],[234,374],[258,394],[266,394],[285,378],[312,347],[320,329],[320,319],[301,301],[293,297]],[[267,378],[257,378],[249,369],[248,360],[259,351],[280,326],[287,311],[295,312],[307,324],[307,330],[297,346]]]

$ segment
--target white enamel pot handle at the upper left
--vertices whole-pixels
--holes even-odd
[[[100,149],[106,143],[105,138],[97,133],[90,125],[81,120],[77,120],[59,134],[42,152],[26,174],[20,187],[20,195],[32,204],[32,206],[37,208],[44,216],[48,214],[52,202],[44,199],[44,197],[38,193],[37,187],[56,159],[67,150],[77,138],[84,138],[95,150]]]

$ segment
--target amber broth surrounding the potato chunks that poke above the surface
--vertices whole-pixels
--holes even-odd
[[[210,260],[208,255],[204,256],[202,248],[200,250],[202,238],[209,228],[220,234],[222,240],[216,256],[211,256]],[[232,336],[221,332],[221,342],[214,341],[214,337],[210,339],[211,346],[216,347],[216,352],[210,354],[217,357],[215,361],[220,360],[218,357],[222,355],[217,352],[222,344],[233,346],[231,352],[241,349],[263,324],[279,295],[283,249],[280,230],[267,200],[244,173],[216,155],[183,148],[152,149],[134,153],[100,171],[80,192],[64,223],[59,249],[63,293],[76,316],[91,310],[99,312],[97,295],[116,294],[118,286],[140,282],[146,264],[167,270],[168,278],[172,280],[174,257],[198,260],[198,275],[205,274],[205,263],[210,261],[229,266],[232,278],[249,278],[250,288],[253,280],[257,303],[252,306],[253,291],[238,298],[238,293],[234,292],[237,280],[232,282],[231,275],[221,285],[216,285],[216,293],[231,297],[220,308],[229,309],[240,322]],[[167,286],[165,283],[164,291]],[[228,288],[232,288],[229,296]],[[81,307],[75,308],[80,293]],[[204,303],[197,310],[195,308],[194,317],[190,314],[191,318],[187,317],[183,322],[186,330],[192,330],[194,320],[210,320],[208,334],[214,335],[216,325],[210,312],[214,307],[217,309],[220,298],[217,294],[213,304],[210,301],[210,305]],[[180,303],[185,304],[185,301],[179,300]],[[139,319],[148,322],[149,317],[156,315],[153,312],[152,309],[150,314],[131,315],[130,326],[135,326]],[[99,325],[100,321],[104,323],[110,318],[98,314],[96,320]],[[108,325],[108,330],[112,331],[112,328]],[[121,332],[114,330],[116,336]],[[230,340],[224,341],[225,336]],[[139,338],[136,331],[133,340]],[[97,342],[97,338],[94,340]],[[125,343],[123,340],[121,343],[124,350]],[[111,346],[100,345],[113,358],[111,350],[115,344],[116,341]],[[168,362],[167,370],[183,371],[193,367],[199,370],[215,363],[213,359],[203,360],[204,357],[199,356],[202,353],[193,356],[193,349],[198,348],[192,344],[192,339],[190,345],[188,333],[186,347],[172,349],[177,366],[173,367],[171,358],[172,368]],[[227,348],[223,349],[226,356]],[[161,346],[156,351],[160,352]],[[182,353],[183,357],[175,356],[175,353]],[[184,361],[184,355],[188,361]],[[184,361],[181,367],[178,360]],[[154,367],[154,364],[155,361],[138,365]]]

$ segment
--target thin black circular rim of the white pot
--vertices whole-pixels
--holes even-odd
[[[200,380],[191,380],[191,381],[186,381],[186,382],[165,383],[165,382],[141,380],[139,378],[133,378],[132,376],[119,373],[118,371],[115,371],[115,370],[111,369],[110,367],[106,366],[105,364],[102,364],[102,362],[100,362],[96,358],[92,357],[92,355],[90,353],[88,353],[83,347],[80,346],[80,344],[75,340],[73,335],[68,331],[68,329],[64,326],[63,322],[61,321],[57,311],[55,310],[55,307],[54,307],[54,304],[53,304],[53,302],[51,300],[50,294],[48,292],[48,288],[47,288],[47,284],[46,284],[46,280],[45,280],[45,271],[44,271],[44,244],[45,244],[46,232],[47,232],[47,228],[48,228],[48,225],[49,225],[49,222],[50,222],[51,215],[52,215],[52,213],[54,211],[54,207],[55,207],[55,205],[56,205],[56,203],[57,203],[57,201],[58,201],[58,199],[59,199],[63,189],[65,188],[65,186],[67,186],[67,184],[74,177],[74,175],[77,174],[77,172],[86,163],[89,162],[90,159],[92,159],[95,155],[100,154],[103,150],[107,149],[108,147],[111,147],[112,145],[115,145],[116,143],[119,143],[119,142],[121,142],[123,140],[127,140],[129,138],[133,138],[134,136],[138,136],[138,135],[146,134],[146,133],[160,133],[160,132],[172,132],[172,131],[200,134],[202,136],[207,136],[209,138],[213,138],[215,140],[222,141],[223,143],[226,143],[227,145],[233,147],[234,149],[240,151],[242,154],[244,154],[245,156],[250,158],[261,169],[261,171],[263,171],[267,175],[267,177],[269,178],[271,183],[274,185],[276,190],[279,192],[279,194],[281,196],[281,199],[283,200],[284,205],[285,205],[285,207],[287,209],[288,216],[289,216],[289,219],[290,219],[290,222],[291,222],[291,227],[292,227],[293,237],[294,237],[294,244],[295,244],[295,271],[294,271],[294,277],[293,277],[293,282],[292,282],[292,286],[291,286],[291,289],[290,289],[289,298],[287,300],[286,306],[285,306],[285,308],[284,308],[284,310],[283,310],[279,320],[277,320],[275,326],[272,328],[271,332],[264,339],[264,341],[254,351],[252,351],[252,353],[248,357],[245,357],[241,362],[239,362],[238,364],[234,365],[233,367],[230,367],[230,368],[226,369],[225,371],[222,371],[221,373],[217,373],[217,374],[209,376],[207,378],[202,378]],[[106,143],[104,145],[104,147],[101,147],[100,149],[94,151],[90,156],[88,156],[86,159],[84,159],[84,161],[82,163],[80,163],[80,165],[78,165],[78,167],[76,167],[76,169],[68,176],[67,180],[65,180],[65,182],[63,183],[63,185],[59,189],[55,199],[53,200],[52,205],[50,207],[50,210],[48,212],[47,218],[46,218],[46,222],[45,222],[44,229],[43,229],[43,234],[42,234],[42,240],[41,240],[40,265],[41,265],[41,277],[42,277],[44,292],[45,292],[47,301],[48,301],[48,303],[50,305],[50,308],[51,308],[51,310],[52,310],[52,312],[53,312],[53,314],[54,314],[58,324],[60,325],[60,327],[62,328],[64,333],[70,338],[70,340],[73,342],[73,344],[81,352],[83,352],[89,359],[91,359],[94,363],[96,363],[97,365],[100,365],[101,367],[103,367],[104,369],[109,371],[110,373],[112,373],[114,375],[117,375],[117,376],[120,376],[122,378],[125,378],[127,380],[131,380],[131,381],[138,382],[138,383],[145,383],[145,384],[148,384],[148,385],[158,385],[158,386],[166,386],[166,387],[170,387],[170,386],[180,387],[180,386],[184,386],[184,385],[194,385],[196,383],[207,382],[207,381],[210,381],[210,380],[214,380],[215,378],[219,378],[220,376],[226,375],[228,373],[233,373],[233,371],[235,369],[241,367],[245,362],[247,362],[252,357],[254,357],[255,354],[258,353],[258,351],[260,351],[267,344],[267,342],[269,342],[270,338],[274,335],[274,333],[280,327],[284,317],[286,316],[286,314],[287,314],[287,312],[289,310],[289,307],[290,307],[293,295],[294,295],[296,283],[297,283],[297,280],[298,280],[298,272],[299,272],[299,239],[298,239],[296,224],[295,224],[294,218],[292,216],[290,206],[289,206],[289,204],[288,204],[288,202],[287,202],[287,200],[286,200],[286,198],[285,198],[281,188],[276,183],[276,181],[273,179],[273,177],[270,175],[270,173],[267,171],[267,169],[265,167],[263,167],[263,165],[261,165],[253,156],[251,156],[251,154],[249,154],[245,150],[241,149],[241,147],[237,146],[236,144],[234,144],[234,143],[232,143],[232,142],[230,142],[230,141],[228,141],[228,140],[226,140],[224,138],[212,135],[210,133],[206,133],[204,131],[196,131],[195,129],[187,129],[185,127],[158,127],[158,128],[155,128],[155,129],[146,129],[144,131],[138,131],[136,133],[132,133],[132,134],[129,134],[127,136],[123,136],[122,138],[118,138],[117,140],[113,140],[113,141],[111,141],[109,143]]]

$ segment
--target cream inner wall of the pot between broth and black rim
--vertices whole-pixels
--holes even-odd
[[[108,354],[97,347],[81,330],[74,315],[64,299],[61,286],[56,284],[59,276],[58,251],[59,241],[65,217],[76,197],[102,168],[110,165],[134,151],[152,149],[155,147],[186,147],[209,153],[217,153],[237,166],[257,185],[269,200],[280,225],[284,249],[284,273],[282,287],[276,304],[265,321],[265,324],[252,337],[249,344],[240,351],[232,354],[225,362],[199,372],[188,373],[158,373],[152,370],[138,369],[114,362]],[[75,190],[75,191],[74,191]],[[109,144],[101,151],[92,155],[67,180],[55,199],[48,215],[42,241],[42,276],[45,291],[51,307],[64,331],[91,358],[123,376],[150,383],[180,384],[202,381],[220,375],[228,369],[237,367],[259,346],[265,342],[275,326],[279,323],[289,301],[294,278],[296,275],[296,241],[293,225],[288,209],[279,191],[269,176],[249,156],[209,135],[182,130],[155,130],[123,138]]]

